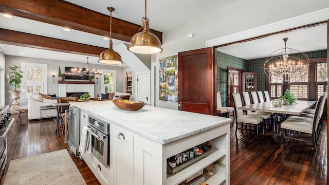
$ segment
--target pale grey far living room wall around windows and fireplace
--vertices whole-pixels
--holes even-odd
[[[21,62],[29,62],[29,63],[42,63],[48,65],[48,91],[45,93],[56,94],[59,95],[59,85],[58,80],[61,79],[58,77],[58,68],[61,66],[61,72],[65,72],[65,67],[81,67],[84,63],[76,63],[76,62],[66,62],[66,61],[57,61],[57,60],[48,60],[48,59],[36,59],[36,58],[27,58],[27,57],[16,57],[12,55],[6,55],[6,63],[5,63],[5,73],[9,72],[9,66],[17,65],[21,66]],[[109,69],[117,71],[117,91],[124,92],[124,83],[125,76],[122,67],[116,66],[108,66],[108,65],[97,65],[91,64],[92,67],[101,68],[101,69]],[[52,83],[52,73],[55,75],[54,83]],[[24,74],[23,74],[24,75]],[[0,78],[1,79],[1,78]],[[96,80],[96,79],[94,79]],[[95,97],[97,94],[101,94],[101,83],[100,79],[98,79],[98,84],[95,82]],[[1,84],[0,84],[1,85]],[[10,99],[10,94],[6,93],[8,90],[14,90],[13,86],[9,86],[8,83],[5,83],[5,104],[11,104],[12,100]],[[2,89],[0,91],[3,91]],[[20,99],[17,100],[20,102]],[[27,104],[27,102],[22,102],[22,104]]]

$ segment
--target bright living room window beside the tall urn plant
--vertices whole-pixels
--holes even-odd
[[[23,71],[22,101],[27,101],[32,93],[47,93],[47,64],[21,63]]]

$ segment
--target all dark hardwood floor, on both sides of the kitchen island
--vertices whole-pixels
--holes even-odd
[[[19,159],[62,149],[68,149],[62,137],[54,132],[52,119],[27,121],[17,118],[8,135],[8,160],[0,184],[4,183],[8,164]],[[326,184],[327,132],[324,121],[318,151],[305,142],[287,140],[280,145],[280,134],[260,134],[238,131],[235,137],[231,123],[230,184]],[[100,184],[87,165],[69,152],[87,184]],[[212,184],[210,184],[212,185]]]

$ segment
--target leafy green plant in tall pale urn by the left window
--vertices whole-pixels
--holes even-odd
[[[19,69],[19,66],[9,66],[9,69],[11,69],[10,72],[7,73],[6,78],[8,79],[8,83],[11,86],[15,87],[15,90],[9,90],[8,92],[11,93],[11,99],[13,99],[14,101],[11,103],[11,110],[16,110],[20,103],[17,102],[17,99],[20,98],[20,91],[21,90],[17,90],[17,88],[21,87],[21,83],[22,83],[22,73],[23,71],[21,71]]]

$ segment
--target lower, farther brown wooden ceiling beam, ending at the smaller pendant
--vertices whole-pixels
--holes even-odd
[[[99,57],[99,54],[107,49],[2,28],[0,28],[0,33],[1,43],[15,46],[32,47],[74,54],[83,54],[93,57]]]

